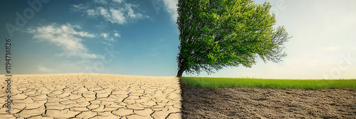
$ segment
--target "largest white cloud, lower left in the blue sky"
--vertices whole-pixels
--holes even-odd
[[[60,56],[78,56],[83,59],[101,58],[100,55],[90,54],[83,45],[81,38],[94,38],[95,35],[80,31],[79,26],[71,26],[69,23],[59,26],[52,23],[48,26],[29,28],[28,32],[33,33],[33,38],[42,42],[50,42],[61,47],[63,53]]]

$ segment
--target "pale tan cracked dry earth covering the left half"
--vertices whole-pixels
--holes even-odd
[[[1,88],[5,77],[1,76]],[[11,114],[5,89],[0,118],[181,118],[175,77],[110,74],[13,75]]]

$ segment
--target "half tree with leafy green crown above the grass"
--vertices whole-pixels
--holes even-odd
[[[224,67],[252,67],[256,57],[280,62],[290,38],[283,26],[273,28],[271,5],[252,0],[179,0],[178,73],[214,73]]]

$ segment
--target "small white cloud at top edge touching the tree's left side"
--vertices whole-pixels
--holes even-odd
[[[162,0],[166,11],[171,15],[172,21],[177,21],[178,0]]]

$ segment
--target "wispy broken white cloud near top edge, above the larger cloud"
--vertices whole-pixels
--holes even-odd
[[[111,3],[103,0],[95,0],[94,2],[99,4],[91,7],[84,6],[83,4],[72,5],[72,9],[73,11],[80,11],[92,18],[101,16],[105,21],[120,25],[127,23],[127,21],[144,17],[142,13],[138,12],[137,5],[124,3],[123,0],[114,0]]]

